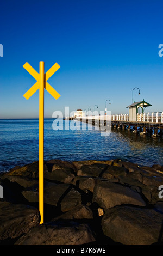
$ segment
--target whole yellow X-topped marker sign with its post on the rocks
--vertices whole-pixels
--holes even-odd
[[[40,89],[39,92],[39,210],[41,215],[40,224],[43,223],[43,136],[44,136],[44,88],[57,100],[60,95],[47,80],[57,71],[60,66],[55,63],[47,72],[44,74],[44,62],[40,62],[40,74],[26,62],[23,65],[30,75],[32,75],[37,82],[23,95],[27,100],[32,96],[36,90]]]

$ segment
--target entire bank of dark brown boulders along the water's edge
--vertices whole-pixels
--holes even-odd
[[[0,245],[162,245],[163,167],[111,161],[45,162],[0,176]],[[162,193],[163,194],[163,193]]]

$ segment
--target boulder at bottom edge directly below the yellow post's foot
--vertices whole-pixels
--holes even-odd
[[[15,245],[83,245],[95,242],[89,224],[74,221],[55,221],[41,224],[23,235]]]

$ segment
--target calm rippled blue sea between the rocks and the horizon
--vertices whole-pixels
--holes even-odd
[[[163,165],[163,139],[141,137],[132,132],[58,130],[45,119],[44,159],[111,160],[120,158],[140,166]],[[0,172],[39,160],[39,119],[0,119]]]

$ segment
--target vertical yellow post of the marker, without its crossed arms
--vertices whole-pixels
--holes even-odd
[[[39,210],[40,224],[43,223],[43,135],[44,135],[44,62],[40,62],[40,95],[39,95]]]

